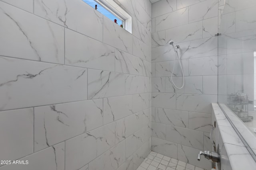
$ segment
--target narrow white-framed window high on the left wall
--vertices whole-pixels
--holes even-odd
[[[132,17],[125,12],[114,0],[83,0],[92,8],[96,8],[97,11],[102,13],[104,16],[116,22],[118,25],[132,33]]]

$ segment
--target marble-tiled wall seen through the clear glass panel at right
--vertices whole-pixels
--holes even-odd
[[[254,100],[256,51],[256,2],[226,0],[226,4],[222,9],[218,60],[218,100],[225,104],[229,95],[240,92],[248,94],[249,100]],[[249,106],[249,109],[254,111],[254,106]]]

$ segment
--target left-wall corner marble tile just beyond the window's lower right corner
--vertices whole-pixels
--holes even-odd
[[[151,44],[147,45],[137,39],[136,37],[133,38],[133,55],[140,57],[146,61],[151,61]]]

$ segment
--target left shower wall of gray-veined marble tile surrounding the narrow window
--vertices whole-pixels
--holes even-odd
[[[136,170],[151,150],[151,3],[0,0],[0,170]],[[139,15],[140,14],[140,15]]]

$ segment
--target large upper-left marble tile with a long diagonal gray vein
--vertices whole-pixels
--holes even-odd
[[[0,55],[64,64],[63,27],[4,2],[0,6]]]

